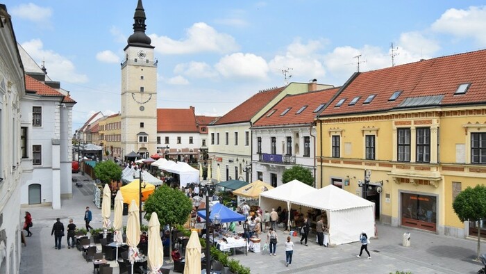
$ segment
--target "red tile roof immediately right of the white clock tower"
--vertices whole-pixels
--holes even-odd
[[[198,132],[191,108],[158,108],[157,132]]]

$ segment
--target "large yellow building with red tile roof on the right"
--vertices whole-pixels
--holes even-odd
[[[486,183],[485,64],[482,50],[353,74],[317,118],[317,187],[375,202],[382,223],[476,233],[452,202]]]

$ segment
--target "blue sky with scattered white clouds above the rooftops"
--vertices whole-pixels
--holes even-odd
[[[5,3],[17,41],[78,102],[73,127],[120,109],[120,63],[137,0]],[[289,81],[341,86],[357,70],[486,47],[483,1],[144,0],[158,107],[224,115]]]

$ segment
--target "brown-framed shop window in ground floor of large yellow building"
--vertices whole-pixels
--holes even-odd
[[[401,194],[402,225],[435,231],[437,198],[429,195]]]

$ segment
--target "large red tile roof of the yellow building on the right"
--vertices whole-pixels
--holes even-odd
[[[399,107],[403,100],[419,97],[420,100],[433,95],[443,95],[436,104],[459,105],[486,102],[486,50],[433,58],[382,70],[362,72],[342,89],[342,92],[321,113],[342,115],[389,111]],[[462,83],[471,83],[464,95],[454,95]],[[397,90],[401,95],[394,101],[389,98]],[[369,95],[376,97],[369,104],[363,104]],[[360,97],[354,106],[349,102]],[[421,98],[421,99],[420,99]],[[337,102],[346,99],[336,107]],[[421,106],[424,106],[423,104]]]

